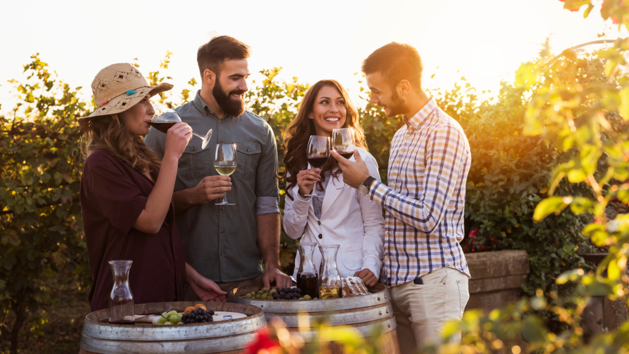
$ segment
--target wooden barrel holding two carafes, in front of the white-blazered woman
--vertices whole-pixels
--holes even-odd
[[[327,321],[330,326],[347,325],[357,329],[363,337],[373,333],[374,326],[381,326],[381,353],[399,353],[396,321],[391,306],[389,289],[382,284],[369,288],[371,294],[364,296],[345,297],[325,300],[259,300],[241,297],[248,292],[258,291],[262,285],[247,285],[233,289],[228,294],[227,301],[260,307],[270,323],[274,317],[279,317],[286,323],[289,331],[299,331],[298,316],[308,316],[308,323],[314,326],[321,321]],[[303,325],[302,321],[302,325]],[[303,329],[303,328],[302,328]],[[315,338],[312,329],[299,331],[304,341],[308,343]],[[329,348],[331,353],[342,353],[343,348],[333,344]]]

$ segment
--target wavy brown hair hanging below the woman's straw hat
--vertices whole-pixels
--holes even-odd
[[[105,150],[130,163],[132,168],[142,173],[150,171],[150,163],[157,169],[160,168],[161,162],[157,153],[147,147],[142,136],[136,135],[133,136],[133,141],[129,140],[125,121],[120,114],[92,118],[81,124],[81,130],[87,131],[86,140],[82,144],[86,158],[96,150]]]

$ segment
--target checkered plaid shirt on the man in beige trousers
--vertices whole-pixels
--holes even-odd
[[[450,267],[469,276],[463,240],[470,147],[463,129],[434,99],[391,143],[389,186],[374,181],[370,197],[386,210],[381,281],[394,286]]]

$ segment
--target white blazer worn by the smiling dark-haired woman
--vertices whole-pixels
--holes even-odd
[[[370,153],[358,148],[360,157],[367,163],[369,173],[380,180],[378,163]],[[352,156],[350,160],[355,161]],[[312,167],[308,165],[308,168]],[[302,199],[299,187],[290,190],[294,200],[286,196],[284,204],[284,231],[293,239],[301,237],[301,242],[315,242],[320,245],[340,245],[337,253],[338,273],[341,277],[353,276],[355,272],[369,268],[377,278],[382,267],[384,252],[384,218],[382,207],[363,196],[358,189],[343,187],[343,174],[331,180],[325,189],[321,205],[321,219],[315,216],[312,197]],[[321,264],[321,253],[315,249],[317,272]],[[301,258],[295,259],[294,277]]]

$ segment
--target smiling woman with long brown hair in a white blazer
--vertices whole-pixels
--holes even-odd
[[[284,206],[284,231],[301,242],[340,245],[337,267],[340,276],[358,276],[367,285],[376,285],[384,250],[382,208],[357,189],[341,189],[343,175],[336,160],[330,159],[321,169],[313,169],[306,159],[310,135],[331,136],[336,128],[353,128],[360,157],[369,172],[378,176],[376,159],[364,148],[364,133],[358,123],[357,110],[347,91],[336,80],[321,80],[306,92],[297,117],[284,133],[286,141],[287,196]],[[354,160],[352,156],[350,160]],[[323,198],[305,197],[315,184]],[[299,253],[294,277],[299,269]],[[315,250],[315,266],[321,253]]]

